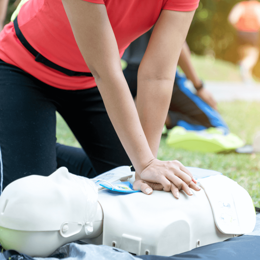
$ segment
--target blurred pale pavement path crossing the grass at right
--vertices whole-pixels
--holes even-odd
[[[247,86],[243,82],[206,81],[205,87],[210,90],[217,102],[234,100],[260,102],[260,83]]]

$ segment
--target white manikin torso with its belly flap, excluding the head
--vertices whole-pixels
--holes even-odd
[[[191,171],[193,169],[196,176],[201,170],[203,173],[201,176],[204,177],[207,171],[190,168]],[[187,196],[180,191],[179,199],[174,198],[172,193],[164,191],[153,191],[153,194],[146,195],[141,192],[123,194],[103,189],[99,191],[98,199],[104,215],[103,233],[93,243],[115,246],[136,255],[148,253],[172,256],[189,251],[198,245],[224,241],[233,237],[233,234],[241,234],[242,230],[243,233],[251,232],[255,226],[255,212],[252,213],[254,206],[250,196],[234,181],[217,172],[213,174],[218,175],[200,179],[200,182],[204,185],[207,195],[212,197],[210,201],[217,216],[215,220],[217,219],[218,228],[210,201],[203,189],[199,192],[194,191],[193,196]],[[230,181],[233,182],[233,186],[230,186]],[[220,186],[223,188],[220,189]],[[229,187],[228,190],[226,186]],[[243,199],[237,196],[237,193],[242,194]],[[231,229],[227,228],[230,225],[221,225],[222,219],[219,216],[222,213],[217,207],[220,207],[218,202],[222,202],[223,196],[228,199],[230,207],[236,209],[239,229],[236,226],[235,214],[232,217]],[[226,200],[223,203],[228,205]],[[249,212],[247,218],[250,215],[249,219],[252,222],[245,229],[242,229],[242,226],[246,226],[242,224],[245,218],[240,217],[243,208]]]

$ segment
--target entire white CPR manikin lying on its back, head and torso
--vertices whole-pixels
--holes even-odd
[[[97,198],[91,180],[65,167],[49,177],[18,179],[0,196],[0,242],[30,256],[48,256],[76,240],[136,255],[171,256],[254,229],[248,192],[219,172],[188,168],[203,189],[193,196],[180,191],[179,199],[164,191],[107,189]],[[131,169],[125,169],[129,176]]]

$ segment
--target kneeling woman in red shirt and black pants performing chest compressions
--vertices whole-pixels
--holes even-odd
[[[163,189],[176,198],[180,189],[188,195],[190,188],[198,191],[180,162],[156,159],[197,6],[197,0],[26,2],[0,34],[1,189],[17,178],[55,170],[57,110],[97,173],[132,162],[135,190]],[[154,24],[139,67],[135,107],[120,56]]]

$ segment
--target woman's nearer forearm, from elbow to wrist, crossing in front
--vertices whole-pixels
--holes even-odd
[[[122,74],[96,83],[115,131],[136,172],[140,173],[154,157],[125,78]]]

